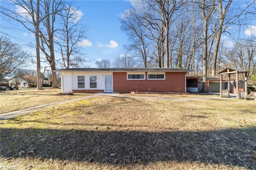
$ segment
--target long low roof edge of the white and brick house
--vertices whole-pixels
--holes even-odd
[[[190,69],[176,69],[176,68],[70,68],[70,69],[58,69],[54,70],[58,72],[62,71],[113,71],[113,72],[124,72],[124,71],[164,71],[164,72],[189,72],[193,71]]]

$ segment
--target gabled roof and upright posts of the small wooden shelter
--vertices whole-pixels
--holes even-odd
[[[242,69],[237,69],[237,68],[226,68],[222,71],[220,71],[218,74],[220,74],[220,97],[222,97],[222,75],[223,74],[228,74],[228,96],[230,97],[230,74],[236,74],[236,98],[239,98],[239,74],[240,73],[245,73],[245,78],[244,78],[244,93],[247,94],[247,77],[248,73],[250,71],[242,70]],[[246,95],[247,96],[247,95]]]

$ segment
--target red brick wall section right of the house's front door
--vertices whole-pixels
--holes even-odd
[[[113,73],[113,92],[185,92],[185,72],[166,72],[165,80],[127,80],[126,72]],[[149,90],[150,89],[150,90]]]

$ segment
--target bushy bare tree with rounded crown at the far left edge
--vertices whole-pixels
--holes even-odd
[[[0,79],[14,74],[25,67],[30,55],[22,48],[11,42],[9,38],[0,36]]]

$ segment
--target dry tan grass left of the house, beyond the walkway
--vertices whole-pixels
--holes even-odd
[[[45,103],[51,103],[55,101],[62,101],[66,99],[73,99],[83,97],[84,93],[74,93],[74,95],[63,95],[59,96],[58,93],[61,89],[20,89],[17,91],[2,91],[0,93],[0,113],[6,113],[10,111],[16,111],[36,105],[42,105]]]

